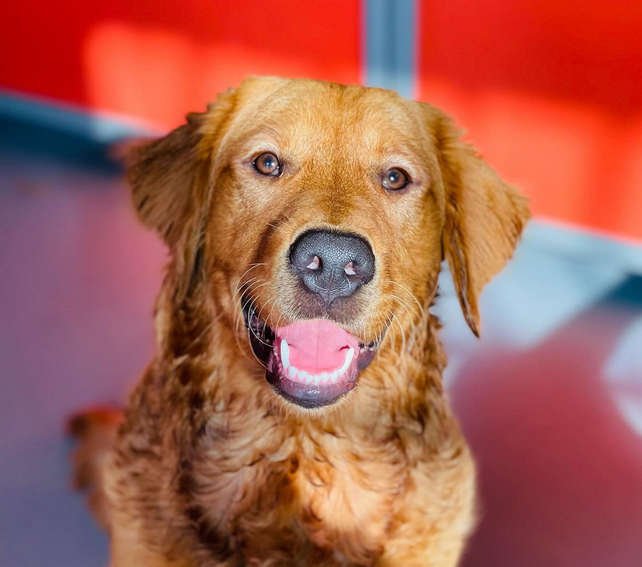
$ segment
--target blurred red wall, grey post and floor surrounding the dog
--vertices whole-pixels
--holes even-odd
[[[0,18],[0,565],[103,566],[64,419],[152,356],[165,251],[105,151],[247,74],[396,89],[530,197],[446,379],[480,469],[465,567],[642,565],[642,3],[72,0]]]

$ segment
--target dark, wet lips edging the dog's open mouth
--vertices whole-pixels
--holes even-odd
[[[265,365],[265,378],[279,396],[302,408],[312,409],[336,403],[356,386],[358,374],[347,382],[325,386],[304,385],[291,380],[281,379],[277,372],[274,372],[268,364],[270,351],[272,351],[274,347],[276,338],[274,330],[258,318],[256,310],[254,309],[255,302],[252,301],[251,298],[244,297],[242,304],[243,317],[245,318],[245,326],[250,336],[252,351],[254,351],[254,354],[261,363]],[[374,355],[377,353],[379,345],[381,345],[385,333],[386,329],[383,329],[381,335],[375,340],[370,341],[368,344],[360,343],[360,349],[356,359],[359,372],[365,370],[370,365],[374,359]]]

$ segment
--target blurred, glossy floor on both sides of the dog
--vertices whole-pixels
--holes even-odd
[[[107,562],[64,420],[123,399],[150,358],[164,250],[100,149],[0,124],[1,566]],[[642,564],[642,277],[618,259],[642,252],[571,241],[528,229],[480,341],[444,277],[447,384],[480,467],[465,567]]]

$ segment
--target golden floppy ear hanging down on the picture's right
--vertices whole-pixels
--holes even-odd
[[[479,336],[480,293],[512,256],[530,216],[528,200],[462,141],[451,118],[432,110],[446,194],[444,257],[465,320]]]

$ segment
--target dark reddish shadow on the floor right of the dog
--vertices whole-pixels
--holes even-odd
[[[451,396],[478,460],[480,525],[464,567],[638,567],[642,437],[604,368],[642,317],[632,276],[532,349],[483,352]],[[642,412],[642,376],[636,391]]]

